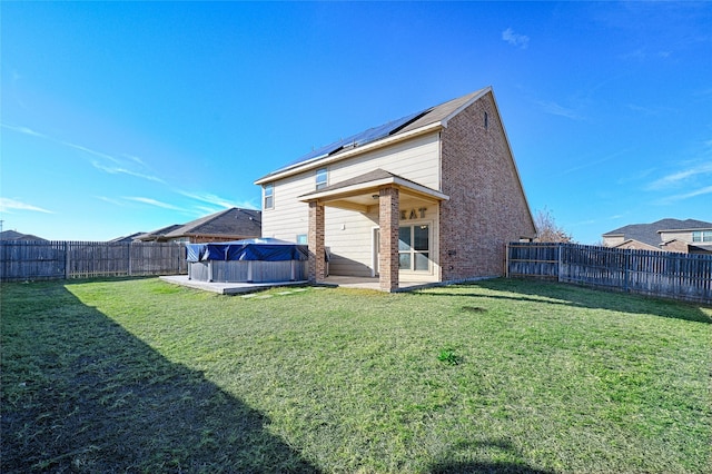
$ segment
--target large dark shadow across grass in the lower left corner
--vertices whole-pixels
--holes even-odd
[[[1,472],[318,472],[202,374],[38,289],[51,304],[3,302]]]

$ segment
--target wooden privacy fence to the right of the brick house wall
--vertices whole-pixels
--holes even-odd
[[[712,255],[577,244],[507,244],[508,277],[551,278],[712,304]]]

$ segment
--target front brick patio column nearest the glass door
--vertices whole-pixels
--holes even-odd
[[[383,188],[378,199],[378,225],[380,227],[380,248],[378,257],[378,279],[380,290],[393,293],[398,289],[398,189]]]

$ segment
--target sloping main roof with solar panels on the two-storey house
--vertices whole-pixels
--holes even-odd
[[[255,184],[260,185],[263,182],[268,182],[270,179],[276,179],[279,175],[290,174],[291,170],[303,170],[304,168],[316,167],[327,159],[339,159],[340,155],[359,152],[362,149],[373,149],[394,140],[418,135],[418,132],[426,132],[431,129],[435,130],[438,127],[446,127],[447,121],[451,118],[491,91],[492,87],[486,87],[456,99],[448,100],[447,102],[443,102],[438,106],[407,115],[397,120],[393,120],[382,126],[373,127],[359,134],[352,135],[342,140],[334,141],[325,147],[301,156],[295,161],[291,161],[275,171],[269,172],[268,175],[257,179]]]

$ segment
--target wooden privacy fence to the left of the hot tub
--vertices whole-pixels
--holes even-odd
[[[186,273],[179,244],[0,241],[0,282]]]

